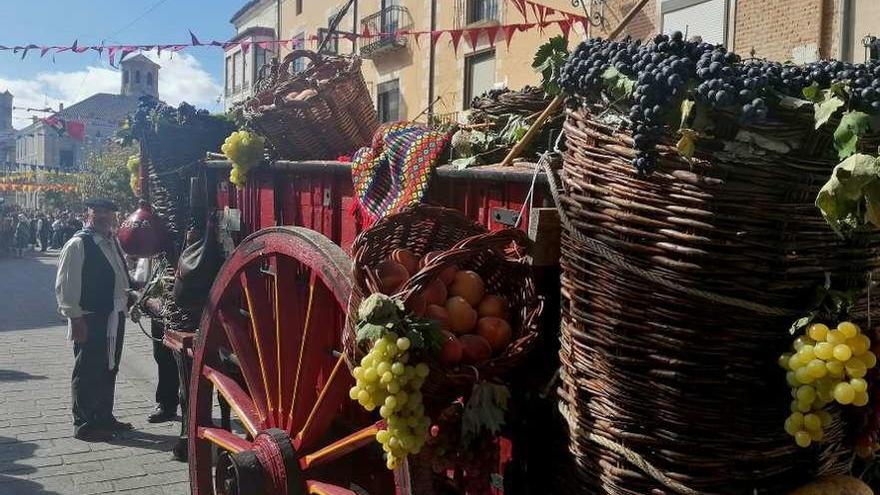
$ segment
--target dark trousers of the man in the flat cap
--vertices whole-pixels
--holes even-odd
[[[85,315],[88,338],[73,344],[73,377],[70,382],[73,397],[73,425],[82,428],[104,428],[113,417],[113,397],[116,392],[116,373],[122,359],[122,341],[125,337],[125,314],[118,313],[116,334],[116,366],[109,369],[107,355],[108,314]]]

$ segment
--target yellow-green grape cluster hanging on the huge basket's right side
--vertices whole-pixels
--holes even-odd
[[[822,323],[810,325],[792,347],[794,352],[779,357],[792,396],[785,431],[798,446],[809,447],[822,440],[823,428],[831,422],[824,409],[828,404],[868,404],[865,375],[877,365],[877,356],[870,350],[871,339],[848,321],[833,330]]]

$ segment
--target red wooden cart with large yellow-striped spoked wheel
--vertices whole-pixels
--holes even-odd
[[[240,241],[215,279],[195,339],[166,339],[193,356],[193,493],[411,493],[407,468],[388,471],[375,447],[381,423],[348,398],[353,379],[340,352],[352,284],[347,250],[361,230],[350,213],[350,165],[274,162],[240,189],[226,180],[227,163],[206,165],[213,206],[240,213]],[[534,219],[550,198],[536,166],[524,163],[439,167],[428,201],[490,230],[529,230],[531,222],[534,234],[546,227]],[[545,287],[558,290],[549,270]],[[215,391],[244,431],[228,419],[215,424]]]

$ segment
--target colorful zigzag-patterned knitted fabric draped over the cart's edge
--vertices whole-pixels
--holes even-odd
[[[422,200],[451,136],[413,122],[376,131],[372,146],[361,148],[351,167],[355,209],[365,226]]]

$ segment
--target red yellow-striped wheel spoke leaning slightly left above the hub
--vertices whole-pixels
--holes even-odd
[[[241,285],[244,289],[247,301],[248,313],[251,320],[251,331],[257,349],[257,359],[260,365],[260,374],[265,385],[266,405],[269,408],[269,423],[278,425],[278,404],[273,401],[275,386],[277,385],[274,354],[275,352],[275,318],[274,311],[269,300],[269,291],[265,277],[258,269],[242,270]],[[270,379],[271,378],[271,379]]]

